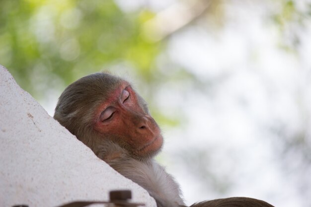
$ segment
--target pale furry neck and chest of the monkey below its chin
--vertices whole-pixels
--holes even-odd
[[[112,146],[94,152],[121,175],[145,188],[156,200],[157,207],[184,205],[178,184],[154,159],[138,160],[120,146]]]

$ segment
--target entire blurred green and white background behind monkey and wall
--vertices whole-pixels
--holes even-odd
[[[51,116],[81,76],[132,80],[188,205],[311,206],[310,0],[0,0],[0,64]]]

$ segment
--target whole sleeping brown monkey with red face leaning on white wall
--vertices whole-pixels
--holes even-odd
[[[59,97],[54,119],[97,157],[145,188],[157,207],[185,207],[179,185],[154,159],[163,145],[161,131],[129,81],[107,72],[78,79]],[[191,207],[272,207],[258,201],[236,197]]]

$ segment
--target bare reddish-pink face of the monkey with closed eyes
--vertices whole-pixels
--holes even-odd
[[[140,107],[135,91],[127,82],[99,106],[94,130],[122,138],[140,156],[156,152],[163,143],[156,121]]]

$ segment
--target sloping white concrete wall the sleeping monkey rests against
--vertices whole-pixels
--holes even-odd
[[[147,191],[98,159],[0,66],[0,206],[108,200],[115,189],[130,189],[133,202],[156,207]]]

